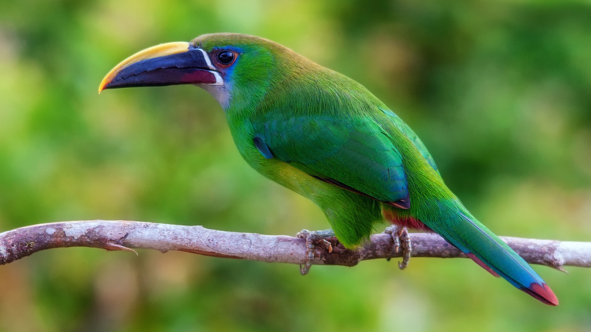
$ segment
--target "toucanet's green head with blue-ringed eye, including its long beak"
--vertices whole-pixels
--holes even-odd
[[[196,84],[224,109],[247,107],[281,80],[286,61],[303,59],[280,44],[243,34],[206,34],[160,44],[126,58],[100,83],[105,89]]]

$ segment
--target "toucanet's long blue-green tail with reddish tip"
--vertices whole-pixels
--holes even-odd
[[[552,289],[531,266],[462,208],[454,209],[456,213],[449,222],[429,226],[492,275],[502,276],[545,304],[558,305]]]

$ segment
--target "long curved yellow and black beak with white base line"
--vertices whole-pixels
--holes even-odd
[[[160,44],[126,58],[113,68],[103,82],[105,89],[177,84],[222,85],[207,52],[186,42]]]

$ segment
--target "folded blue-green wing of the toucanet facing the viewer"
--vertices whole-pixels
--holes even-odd
[[[403,209],[410,208],[400,152],[371,118],[259,118],[254,144],[316,178]]]

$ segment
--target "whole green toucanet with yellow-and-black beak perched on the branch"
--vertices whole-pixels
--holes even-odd
[[[316,203],[347,248],[383,220],[435,232],[492,275],[558,304],[447,188],[417,135],[361,84],[264,38],[206,34],[129,57],[99,92],[173,84],[196,84],[215,97],[246,162]]]

